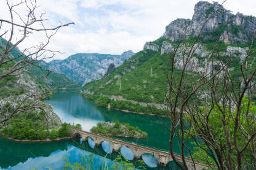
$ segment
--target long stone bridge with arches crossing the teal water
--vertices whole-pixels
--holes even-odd
[[[124,142],[118,139],[113,139],[113,138],[102,136],[95,133],[89,133],[87,131],[83,131],[76,128],[71,128],[71,129],[72,129],[73,137],[80,136],[82,137],[83,141],[87,141],[88,138],[91,137],[94,140],[95,145],[97,146],[101,145],[102,142],[104,141],[109,142],[115,152],[119,152],[121,147],[127,147],[132,151],[132,153],[134,153],[134,157],[137,159],[142,158],[142,155],[145,153],[150,153],[158,160],[161,166],[167,166],[167,163],[169,163],[169,161],[172,161],[172,156],[170,155],[169,152],[151,149],[148,147],[143,147],[141,145],[130,144],[129,142]],[[175,158],[178,161],[182,162],[182,156],[175,155]],[[185,160],[188,168],[194,169],[193,161],[191,160],[191,158],[185,157]],[[207,166],[205,166],[204,164],[197,163],[197,162],[195,163],[196,163],[196,169],[207,168]]]

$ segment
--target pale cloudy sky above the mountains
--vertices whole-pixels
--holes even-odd
[[[8,0],[19,2],[21,0]],[[33,0],[34,1],[34,0]],[[192,18],[196,0],[37,0],[38,14],[46,12],[46,25],[60,21],[75,25],[58,30],[48,48],[60,50],[54,60],[63,60],[75,53],[109,53],[120,55],[127,50],[139,52],[147,41],[164,34],[169,23],[177,18]],[[212,1],[209,1],[212,2]],[[222,3],[223,1],[218,1]],[[256,16],[255,0],[226,0],[223,4],[236,14]],[[25,7],[17,11],[25,15]],[[10,20],[6,0],[0,0],[0,18]],[[18,22],[18,18],[17,22]],[[16,20],[15,20],[16,21]],[[6,25],[4,25],[6,26]],[[2,31],[8,29],[2,26]],[[15,36],[18,36],[16,33]],[[43,39],[34,33],[18,46],[20,50]],[[52,59],[50,59],[52,60]]]

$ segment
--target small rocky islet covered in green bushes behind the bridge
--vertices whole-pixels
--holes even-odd
[[[138,127],[130,126],[129,123],[119,123],[119,122],[103,122],[97,123],[90,129],[91,133],[102,134],[104,136],[122,136],[122,137],[132,137],[132,138],[145,138],[148,136],[146,132],[143,132]]]

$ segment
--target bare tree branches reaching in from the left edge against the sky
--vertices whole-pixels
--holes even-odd
[[[4,50],[0,53],[0,81],[4,78],[17,77],[30,71],[33,67],[41,68],[38,65],[40,61],[52,58],[56,53],[60,53],[58,50],[47,48],[52,37],[60,28],[74,24],[67,23],[63,25],[60,23],[60,25],[54,28],[48,28],[46,26],[47,19],[44,18],[45,14],[38,15],[36,0],[21,0],[17,4],[6,0],[6,5],[9,9],[10,20],[0,19],[0,39],[2,37],[6,39],[6,42],[3,44]],[[17,11],[18,7],[25,7],[26,14],[24,16],[20,15],[22,12]],[[18,45],[33,33],[44,35],[45,41],[31,47],[26,47],[24,50],[21,50],[20,55],[12,56],[10,52],[17,50]],[[51,93],[54,89],[47,93]],[[30,109],[40,109],[46,113],[41,101],[47,93],[30,93],[12,110],[10,110],[10,107],[0,110],[0,123],[5,123],[10,118]]]

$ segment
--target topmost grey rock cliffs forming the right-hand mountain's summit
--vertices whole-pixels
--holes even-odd
[[[184,37],[185,25],[187,26],[186,36],[198,36],[204,21],[219,7],[219,10],[214,17],[207,21],[202,29],[204,39],[212,39],[212,35],[205,34],[215,29],[221,29],[219,38],[225,43],[231,42],[247,42],[251,39],[256,29],[256,18],[242,14],[231,14],[230,10],[224,9],[217,2],[210,3],[199,1],[194,6],[194,15],[192,20],[179,18],[172,21],[166,26],[166,32],[163,37],[170,41],[178,41],[180,37]],[[186,24],[185,24],[186,23]]]

